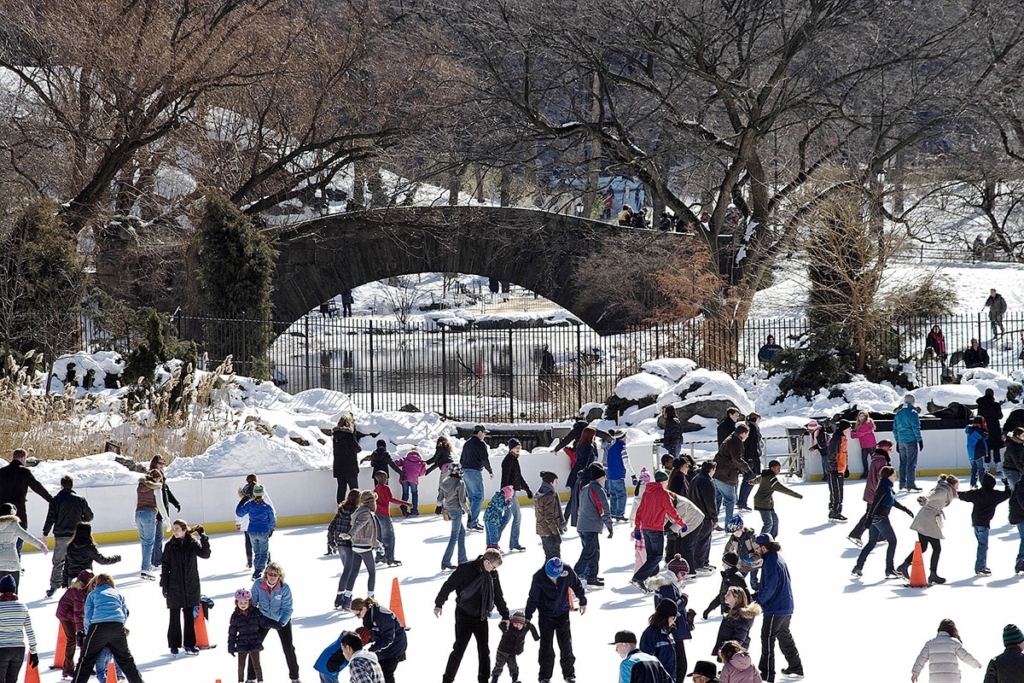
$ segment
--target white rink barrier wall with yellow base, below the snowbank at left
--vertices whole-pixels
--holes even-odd
[[[568,500],[564,490],[568,476],[569,460],[564,454],[541,452],[523,454],[519,458],[523,477],[532,492],[541,487],[541,472],[550,470],[558,474],[559,496]],[[499,489],[501,483],[501,457],[490,459],[495,478],[483,473],[485,501]],[[338,484],[330,470],[305,472],[257,472],[260,483],[266,488],[267,498],[278,513],[278,526],[309,526],[328,524],[333,518],[337,504]],[[398,475],[390,471],[389,485],[395,498],[401,496]],[[433,514],[439,471],[420,478],[420,514]],[[139,476],[142,476],[139,474]],[[372,488],[373,476],[370,468],[359,469],[359,487]],[[245,483],[245,476],[210,477],[205,479],[169,480],[171,492],[181,504],[181,512],[171,506],[171,519],[184,519],[189,524],[203,524],[210,533],[234,532],[234,506],[239,501],[238,490]],[[93,538],[98,544],[130,543],[138,541],[135,529],[136,489],[138,484],[113,486],[76,486],[75,492],[89,501],[95,518],[92,520]],[[56,490],[51,490],[56,494]],[[520,505],[531,505],[532,501],[519,496]],[[47,504],[33,492],[28,498],[29,532],[42,537],[43,522],[46,520]],[[485,503],[484,503],[485,504]],[[392,516],[400,516],[398,506],[391,508]],[[164,538],[170,538],[165,529]],[[48,539],[53,547],[53,538]],[[28,548],[27,548],[28,550]]]

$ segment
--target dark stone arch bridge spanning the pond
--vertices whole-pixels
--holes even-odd
[[[540,210],[402,207],[333,214],[275,234],[274,316],[298,319],[326,299],[367,283],[418,272],[464,272],[516,283],[594,330],[617,331],[649,311],[583,301],[587,257],[623,249],[644,267],[646,251],[683,236],[621,227]]]

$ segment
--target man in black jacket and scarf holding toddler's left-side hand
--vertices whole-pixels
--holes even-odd
[[[502,623],[508,623],[509,609],[502,595],[502,584],[498,579],[498,567],[502,565],[502,554],[494,548],[471,562],[463,562],[441,586],[434,599],[434,616],[441,615],[441,607],[449,595],[455,591],[455,645],[444,668],[442,683],[453,683],[462,664],[462,655],[470,638],[476,638],[476,651],[480,658],[477,670],[478,683],[487,683],[490,676],[490,649],[487,647],[487,617],[490,610],[498,607]]]

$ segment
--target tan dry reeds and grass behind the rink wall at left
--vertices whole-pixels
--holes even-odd
[[[95,393],[77,398],[74,386],[65,393],[46,393],[25,366],[10,356],[5,366],[0,454],[25,449],[39,460],[71,460],[101,453],[112,440],[136,462],[155,456],[171,462],[202,454],[232,430],[232,413],[217,399],[218,391],[234,379],[230,358],[198,380],[190,366],[179,367],[160,384],[120,392],[116,404],[102,402]],[[111,426],[118,424],[117,429]]]

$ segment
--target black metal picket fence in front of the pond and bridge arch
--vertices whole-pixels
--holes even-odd
[[[758,351],[769,335],[792,346],[807,331],[802,318],[750,319],[742,329],[695,319],[605,335],[580,325],[422,328],[335,311],[287,323],[178,316],[176,324],[179,337],[206,355],[208,370],[230,353],[237,373],[273,379],[292,393],[333,389],[370,411],[412,407],[457,420],[518,423],[579,415],[657,358],[688,357],[735,377],[762,366]],[[925,354],[933,325],[944,333],[945,359]],[[911,321],[893,332],[900,357],[915,360],[921,384],[950,375],[955,381],[965,369],[958,351],[972,339],[986,347],[990,368],[1024,369],[1024,313],[1007,315],[998,339],[985,314]],[[95,348],[91,337],[84,341]]]

